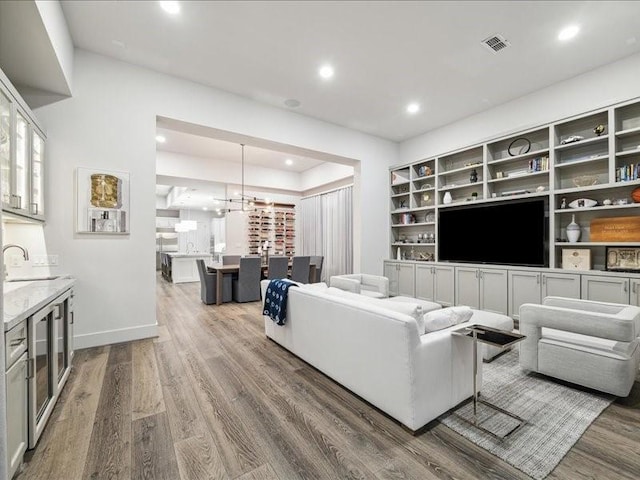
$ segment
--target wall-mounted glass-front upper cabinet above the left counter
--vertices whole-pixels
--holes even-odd
[[[0,72],[2,210],[44,220],[45,136],[28,106]]]

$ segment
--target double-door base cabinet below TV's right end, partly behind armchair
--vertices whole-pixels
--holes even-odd
[[[524,303],[541,303],[547,296],[580,298],[580,275],[572,273],[509,270],[508,315],[520,318]]]

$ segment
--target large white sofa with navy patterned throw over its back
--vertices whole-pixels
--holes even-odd
[[[285,324],[264,316],[267,337],[413,432],[473,394],[468,339],[450,328],[421,335],[410,303],[359,302],[327,290],[291,287]]]

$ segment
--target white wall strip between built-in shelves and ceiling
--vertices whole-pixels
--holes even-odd
[[[400,144],[409,163],[640,96],[640,54],[520,97]]]

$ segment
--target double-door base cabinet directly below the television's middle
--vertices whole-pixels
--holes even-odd
[[[507,315],[507,271],[456,267],[456,305]]]

